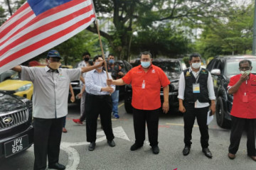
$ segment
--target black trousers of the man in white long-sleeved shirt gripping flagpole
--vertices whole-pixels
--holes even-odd
[[[87,142],[96,141],[97,118],[100,114],[100,121],[107,140],[113,140],[114,134],[112,130],[111,113],[112,100],[111,96],[95,96],[86,94],[85,96],[85,112],[86,112],[86,137]]]

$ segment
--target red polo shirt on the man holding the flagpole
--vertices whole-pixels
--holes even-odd
[[[151,64],[144,72],[139,65],[131,69],[123,78],[126,84],[132,84],[132,106],[140,110],[155,110],[161,107],[160,89],[170,84],[163,70]],[[142,84],[145,88],[142,88]]]

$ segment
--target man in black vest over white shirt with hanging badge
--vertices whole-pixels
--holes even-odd
[[[201,132],[201,147],[206,157],[212,158],[208,149],[207,114],[210,106],[212,114],[215,113],[215,94],[213,79],[207,69],[201,67],[201,55],[194,53],[189,57],[191,67],[181,73],[178,86],[178,110],[183,113],[184,143],[183,155],[189,154],[191,149],[191,134],[195,119]],[[211,104],[209,104],[209,101]]]

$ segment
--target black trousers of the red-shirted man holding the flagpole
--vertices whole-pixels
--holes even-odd
[[[158,145],[159,109],[146,111],[133,108],[135,143],[143,145],[146,126],[151,147]]]

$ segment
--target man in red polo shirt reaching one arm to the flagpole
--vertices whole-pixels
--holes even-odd
[[[145,140],[145,126],[149,132],[149,142],[154,154],[159,154],[158,126],[159,108],[161,108],[160,89],[163,86],[164,113],[169,111],[169,84],[166,74],[159,67],[152,64],[150,52],[142,52],[141,65],[131,69],[122,79],[108,79],[108,84],[122,86],[132,85],[132,106],[134,118],[135,143],[131,150],[143,146]]]

